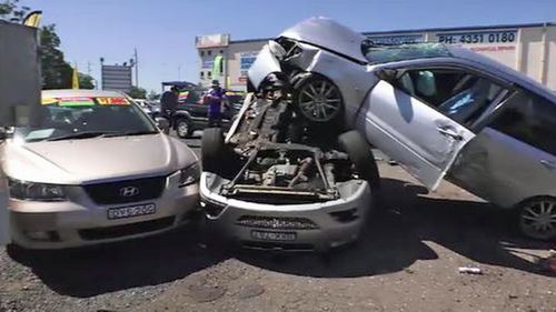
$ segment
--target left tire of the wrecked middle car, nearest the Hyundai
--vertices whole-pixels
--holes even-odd
[[[202,170],[220,174],[226,167],[224,131],[220,128],[207,128],[201,139]]]

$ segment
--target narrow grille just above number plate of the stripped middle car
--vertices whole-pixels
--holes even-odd
[[[318,225],[306,218],[272,218],[259,215],[242,215],[236,224],[249,228],[262,228],[275,230],[316,230]]]

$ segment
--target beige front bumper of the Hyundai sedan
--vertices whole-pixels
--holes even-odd
[[[98,205],[79,187],[69,188],[69,201],[9,200],[13,243],[28,249],[63,249],[116,242],[172,230],[187,223],[198,208],[197,184],[178,188],[168,183],[158,199]],[[109,220],[109,208],[156,204],[148,215]]]

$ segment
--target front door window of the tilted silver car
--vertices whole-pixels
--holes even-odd
[[[464,125],[470,125],[503,90],[486,78],[457,69],[408,70],[396,84]]]

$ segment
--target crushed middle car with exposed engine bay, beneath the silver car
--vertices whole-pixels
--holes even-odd
[[[317,251],[356,241],[373,211],[376,163],[357,132],[322,138],[280,91],[248,94],[226,138],[201,141],[201,209],[212,233],[249,249]]]

